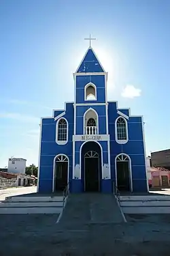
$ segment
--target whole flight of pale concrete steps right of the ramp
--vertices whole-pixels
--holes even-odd
[[[124,214],[169,214],[169,195],[120,195]]]

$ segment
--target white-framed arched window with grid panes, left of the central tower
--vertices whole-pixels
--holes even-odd
[[[68,141],[68,123],[65,118],[58,119],[56,123],[56,143],[66,144]]]

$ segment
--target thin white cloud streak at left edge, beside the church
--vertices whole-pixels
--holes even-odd
[[[38,117],[34,117],[32,115],[22,115],[20,113],[1,112],[0,118],[14,119],[20,122],[29,122],[29,123],[37,123],[37,124],[39,124],[40,122],[40,119]]]

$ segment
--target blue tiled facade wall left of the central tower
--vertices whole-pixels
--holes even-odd
[[[62,111],[63,112],[63,111]],[[52,192],[52,178],[54,157],[57,154],[65,154],[69,157],[69,179],[72,178],[73,171],[73,104],[66,104],[66,113],[63,116],[69,123],[69,138],[65,145],[58,145],[56,143],[56,121],[54,118],[42,119],[41,130],[41,156],[39,169],[39,192]]]

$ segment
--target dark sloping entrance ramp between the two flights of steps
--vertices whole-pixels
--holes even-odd
[[[112,194],[70,194],[58,225],[82,228],[90,224],[123,223],[124,217]]]

